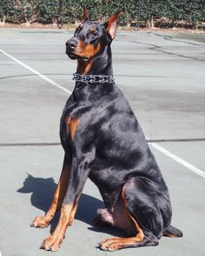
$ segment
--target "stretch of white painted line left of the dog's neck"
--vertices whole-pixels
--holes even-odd
[[[69,95],[72,93],[71,91],[69,91],[68,89],[64,88],[63,86],[61,86],[60,84],[56,84],[56,82],[54,82],[53,80],[51,80],[49,77],[44,76],[43,74],[41,74],[40,72],[34,70],[33,68],[31,68],[30,66],[28,66],[27,64],[24,64],[23,62],[21,62],[20,60],[18,60],[16,57],[11,56],[9,53],[3,51],[2,49],[0,49],[0,52],[2,52],[4,55],[6,55],[7,57],[10,57],[11,59],[13,59],[14,61],[17,62],[17,64],[22,65],[24,68],[26,68],[27,70],[33,72],[34,74],[36,74],[38,77],[42,77],[45,81],[49,82],[50,84],[55,85],[57,88],[65,91],[66,93],[68,93]]]

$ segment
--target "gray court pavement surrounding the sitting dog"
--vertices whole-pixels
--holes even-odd
[[[76,62],[64,54],[72,35],[66,30],[0,30],[0,49],[72,91]],[[142,129],[151,139],[205,138],[205,36],[165,32],[118,31],[113,42],[117,84],[129,99]],[[48,208],[61,172],[59,119],[68,94],[0,52],[0,251],[3,256],[36,256],[55,226],[30,228],[31,220]],[[3,146],[3,144],[16,144]],[[205,172],[205,141],[160,144]],[[152,147],[152,146],[151,146]],[[162,238],[160,245],[116,252],[116,255],[203,256],[204,179],[152,147],[169,185],[173,224],[182,239]],[[58,255],[108,255],[97,242],[115,229],[96,229],[102,199],[87,182],[74,225]]]

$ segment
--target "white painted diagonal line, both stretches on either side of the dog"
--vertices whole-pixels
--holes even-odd
[[[7,57],[10,57],[11,59],[13,59],[14,61],[17,62],[17,64],[22,65],[24,68],[26,68],[27,70],[35,73],[37,76],[42,77],[45,81],[49,82],[50,84],[55,85],[57,88],[67,92],[68,94],[71,94],[71,91],[67,90],[66,88],[64,88],[63,86],[61,86],[60,84],[56,84],[53,80],[51,80],[49,77],[46,77],[44,75],[42,75],[40,72],[32,69],[30,66],[28,66],[27,64],[23,64],[23,62],[21,62],[20,60],[18,60],[16,57],[11,56],[9,53],[3,51],[0,49],[0,51],[6,55]],[[148,138],[147,138],[148,139]],[[177,157],[175,154],[173,154],[172,152],[169,152],[168,150],[166,150],[165,148],[163,148],[161,145],[158,145],[156,143],[150,143],[150,145],[152,145],[156,150],[158,150],[159,152],[162,152],[163,154],[165,154],[166,156],[168,156],[169,158],[172,158],[173,160],[175,160],[177,163],[185,166],[188,168],[188,170],[195,172],[195,174],[201,176],[202,178],[205,178],[205,172],[202,172],[202,170],[196,168],[194,165],[189,164],[187,161],[183,160],[182,158]]]

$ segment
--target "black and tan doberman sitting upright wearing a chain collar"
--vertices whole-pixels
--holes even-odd
[[[102,250],[156,246],[163,235],[182,236],[170,225],[172,210],[162,172],[113,77],[110,44],[119,14],[99,24],[89,21],[84,8],[83,24],[66,43],[67,55],[77,60],[77,71],[60,124],[63,171],[49,211],[31,224],[46,227],[61,209],[55,231],[43,240],[47,251],[58,250],[88,178],[105,205],[98,209],[95,225],[109,224],[127,233],[125,238],[102,241]]]

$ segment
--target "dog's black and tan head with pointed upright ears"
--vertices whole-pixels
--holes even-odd
[[[102,48],[111,44],[116,37],[116,22],[120,11],[116,12],[104,24],[89,21],[86,8],[83,10],[83,23],[80,24],[66,43],[66,54],[71,59],[89,60],[95,57]]]

